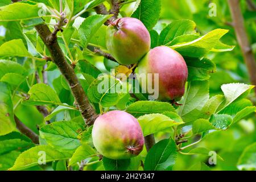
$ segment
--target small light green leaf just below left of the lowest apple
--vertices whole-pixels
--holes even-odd
[[[89,158],[90,156],[92,156],[94,154],[96,154],[96,151],[92,147],[90,147],[88,144],[82,144],[82,146],[80,146],[76,149],[68,166],[72,166],[73,164],[76,164],[77,162],[81,162],[81,160]]]

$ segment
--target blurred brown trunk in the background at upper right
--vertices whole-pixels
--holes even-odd
[[[256,85],[256,63],[253,50],[246,35],[245,22],[240,8],[239,0],[228,0],[230,13],[233,18],[233,25],[236,31],[238,43],[243,53],[243,59],[249,72],[251,84]],[[256,89],[254,89],[256,93]]]

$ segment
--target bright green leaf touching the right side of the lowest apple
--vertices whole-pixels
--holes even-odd
[[[142,115],[138,118],[138,122],[141,125],[144,136],[171,129],[172,126],[177,126],[183,123],[176,122],[163,114]]]

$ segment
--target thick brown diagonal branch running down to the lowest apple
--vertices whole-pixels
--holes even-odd
[[[46,47],[51,54],[52,61],[57,65],[60,72],[68,81],[69,87],[71,88],[72,94],[75,97],[75,101],[86,125],[92,125],[98,115],[92,105],[90,105],[88,98],[85,96],[84,89],[82,89],[73,68],[67,63],[65,56],[57,43],[56,34],[53,34],[46,24],[39,24],[35,26],[35,28],[44,44],[46,44]]]

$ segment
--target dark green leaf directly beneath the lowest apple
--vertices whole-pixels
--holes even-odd
[[[103,157],[102,161],[106,171],[126,171],[130,165],[130,159],[114,160]]]

